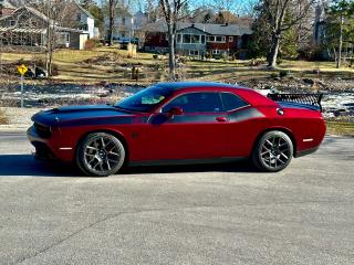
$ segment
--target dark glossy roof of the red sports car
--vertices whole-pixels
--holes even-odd
[[[240,88],[240,89],[249,89],[241,86],[225,84],[225,83],[218,83],[218,82],[196,82],[196,81],[188,81],[188,82],[165,82],[165,83],[158,83],[155,86],[168,88],[173,91],[178,91],[183,88],[196,88],[196,87],[219,87],[219,88]]]

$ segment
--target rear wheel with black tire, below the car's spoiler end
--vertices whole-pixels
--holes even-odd
[[[279,172],[289,166],[293,150],[292,140],[287,134],[268,131],[254,145],[252,162],[261,171]]]

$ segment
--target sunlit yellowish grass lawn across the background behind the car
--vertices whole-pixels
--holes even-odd
[[[117,57],[111,64],[84,63],[106,54]],[[43,54],[27,53],[2,53],[4,62],[18,62],[23,59],[31,62],[34,57],[44,59]],[[139,64],[143,76],[138,83],[148,84],[163,81],[167,75],[167,59],[154,60],[150,53],[137,53],[135,59],[127,57],[127,51],[115,47],[101,47],[93,51],[58,50],[54,53],[54,63],[58,65],[59,75],[53,78],[66,83],[135,83],[132,81],[128,70],[119,67],[122,64]],[[299,77],[317,77],[315,72],[320,70],[321,77],[343,76],[352,77],[354,68],[343,67],[341,71],[335,68],[334,62],[304,62],[285,61],[280,64],[280,68],[291,72]],[[15,70],[13,70],[15,71]],[[249,78],[267,78],[272,74],[264,67],[251,67],[249,61],[188,61],[180,70],[185,80],[202,80],[219,82],[240,82]]]

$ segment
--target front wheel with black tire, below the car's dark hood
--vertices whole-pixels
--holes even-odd
[[[94,132],[79,144],[76,165],[86,176],[107,177],[123,167],[125,153],[119,139],[111,134]]]

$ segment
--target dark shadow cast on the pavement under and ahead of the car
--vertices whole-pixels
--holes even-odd
[[[125,168],[119,174],[144,174],[144,173],[188,173],[188,172],[256,172],[256,169],[247,161],[235,163],[214,165],[183,165],[183,166],[144,166]],[[73,165],[42,161],[32,155],[0,155],[1,177],[85,177]]]

